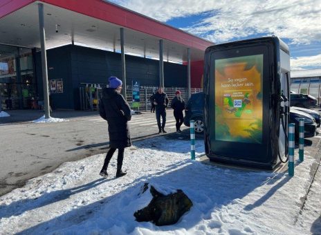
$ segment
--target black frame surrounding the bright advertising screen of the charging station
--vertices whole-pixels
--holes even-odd
[[[262,144],[215,140],[215,59],[244,55],[264,55],[263,75],[263,139]],[[279,151],[279,96],[281,95],[279,68],[279,39],[264,37],[209,47],[204,63],[204,121],[205,153],[212,161],[244,164],[272,169],[277,164]]]

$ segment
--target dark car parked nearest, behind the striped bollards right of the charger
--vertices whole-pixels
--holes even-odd
[[[314,118],[308,113],[291,108],[288,121],[295,124],[295,139],[299,138],[299,122],[301,118],[304,119],[304,138],[313,137],[317,129]]]

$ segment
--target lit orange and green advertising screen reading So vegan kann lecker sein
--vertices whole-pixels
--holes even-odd
[[[214,63],[215,139],[262,144],[263,55]]]

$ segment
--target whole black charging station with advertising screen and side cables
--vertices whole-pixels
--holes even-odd
[[[205,152],[214,162],[286,162],[290,55],[277,37],[210,46],[204,63]]]

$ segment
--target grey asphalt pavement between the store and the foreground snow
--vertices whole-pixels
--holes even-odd
[[[44,124],[30,122],[40,118],[41,111],[8,113],[10,118],[0,119],[0,196],[64,162],[107,152],[107,122],[97,111],[54,111],[52,117],[67,122]],[[158,135],[155,113],[133,115],[129,124],[134,141]],[[167,110],[165,129],[169,135],[176,131],[172,110]],[[97,166],[98,172],[100,167]]]

